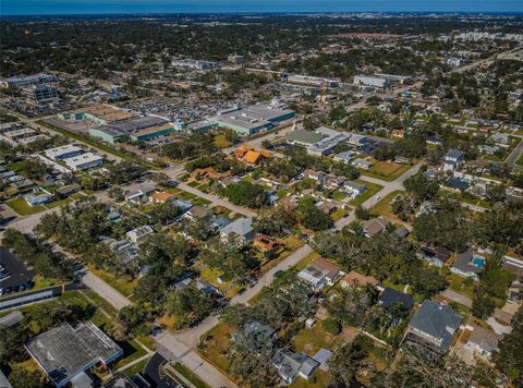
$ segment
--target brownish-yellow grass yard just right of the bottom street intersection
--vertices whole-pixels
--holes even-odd
[[[229,361],[226,355],[229,350],[229,341],[227,338],[233,331],[234,329],[231,326],[220,323],[202,336],[202,340],[205,338],[205,342],[198,347],[198,353],[223,372],[227,371],[229,366]]]

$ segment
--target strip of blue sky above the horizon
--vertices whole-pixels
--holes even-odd
[[[217,12],[519,12],[523,0],[0,0],[0,15]]]

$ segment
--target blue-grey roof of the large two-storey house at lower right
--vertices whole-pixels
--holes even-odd
[[[451,306],[433,301],[425,301],[414,314],[409,325],[422,332],[442,340],[441,350],[447,350],[452,343],[453,334],[461,324],[461,316]],[[447,328],[450,328],[451,332]]]

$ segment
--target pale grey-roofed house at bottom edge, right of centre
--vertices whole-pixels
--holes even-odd
[[[279,349],[273,355],[272,365],[284,384],[292,384],[299,376],[308,379],[319,363],[306,354],[295,353],[289,349]]]

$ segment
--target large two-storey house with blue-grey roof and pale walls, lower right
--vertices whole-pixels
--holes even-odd
[[[449,350],[462,317],[451,306],[426,300],[414,314],[406,329],[405,341],[424,344],[427,350]]]

